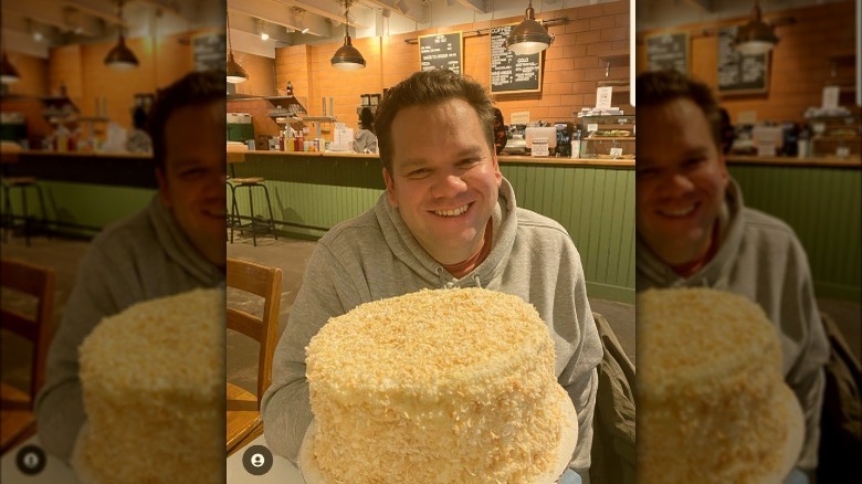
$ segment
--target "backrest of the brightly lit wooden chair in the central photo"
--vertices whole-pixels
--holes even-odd
[[[272,358],[278,336],[282,270],[228,257],[228,287],[263,297],[263,317],[230,306],[227,312],[228,329],[242,333],[260,343],[257,361],[257,409],[260,409],[263,392],[272,381]]]

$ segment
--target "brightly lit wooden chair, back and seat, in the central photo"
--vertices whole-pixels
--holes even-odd
[[[263,433],[261,398],[272,381],[272,357],[278,337],[278,307],[282,270],[249,261],[228,259],[228,287],[263,297],[263,317],[228,307],[228,329],[249,336],[260,344],[257,396],[228,382],[228,455]]]

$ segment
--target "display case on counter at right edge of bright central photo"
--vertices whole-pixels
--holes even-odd
[[[634,159],[634,115],[586,115],[580,119],[580,158]]]

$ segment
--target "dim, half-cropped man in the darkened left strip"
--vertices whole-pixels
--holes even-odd
[[[192,73],[158,93],[153,137],[159,192],[93,240],[48,354],[35,402],[45,450],[69,461],[86,421],[77,348],[135,303],[224,281],[224,74]]]

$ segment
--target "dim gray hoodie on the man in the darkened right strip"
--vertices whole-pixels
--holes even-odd
[[[743,206],[730,180],[719,215],[719,248],[712,261],[688,278],[676,274],[638,238],[637,288],[713,287],[747,296],[763,307],[781,336],[785,381],[806,417],[806,442],[797,466],[817,466],[823,365],[829,358],[811,271],[792,229],[775,217]]]

